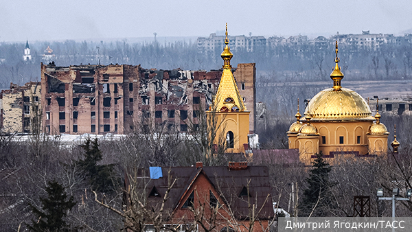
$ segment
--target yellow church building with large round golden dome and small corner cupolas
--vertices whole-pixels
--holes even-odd
[[[305,117],[301,119],[299,100],[296,118],[287,132],[290,149],[299,149],[304,162],[322,152],[325,157],[335,154],[385,154],[389,132],[380,123],[377,108],[372,117],[369,105],[355,91],[342,88],[343,73],[338,65],[336,41],[335,67],[330,78],[333,87],[320,91],[308,102]],[[378,106],[377,106],[378,107]]]

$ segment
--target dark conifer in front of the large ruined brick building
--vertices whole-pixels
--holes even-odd
[[[78,165],[86,174],[92,189],[98,192],[111,192],[117,179],[113,178],[113,165],[98,165],[103,159],[98,139],[87,138],[82,148],[84,159],[78,161]]]

